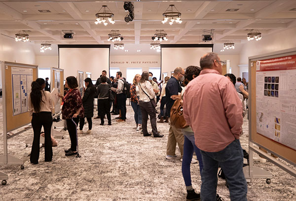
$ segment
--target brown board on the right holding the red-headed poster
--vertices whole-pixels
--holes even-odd
[[[250,57],[249,76],[250,142],[296,166],[296,48]]]

